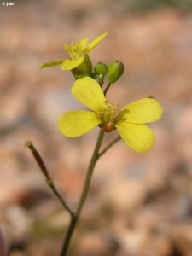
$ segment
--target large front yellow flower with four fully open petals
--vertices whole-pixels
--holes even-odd
[[[117,104],[110,104],[96,80],[86,77],[78,79],[72,87],[72,94],[88,110],[74,110],[63,113],[58,121],[59,130],[67,137],[78,137],[98,125],[103,131],[119,131],[124,142],[137,152],[145,152],[154,145],[154,132],[145,123],[160,119],[160,103],[151,98],[132,102],[119,110]]]

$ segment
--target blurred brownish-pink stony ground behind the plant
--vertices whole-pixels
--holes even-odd
[[[96,165],[70,256],[190,256],[192,252],[192,2],[13,0],[0,6],[0,226],[10,256],[59,255],[69,216],[44,183],[32,140],[75,209],[98,129],[63,137],[57,119],[79,108],[73,76],[46,61],[63,44],[108,32],[94,64],[122,61],[108,92],[119,108],[154,96],[163,118],[154,148],[116,143]],[[7,2],[4,2],[7,3]],[[116,132],[108,134],[107,145]],[[0,242],[1,244],[1,242]],[[1,251],[1,250],[0,250]],[[0,253],[1,255],[1,253]]]

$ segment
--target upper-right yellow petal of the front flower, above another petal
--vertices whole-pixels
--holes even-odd
[[[163,109],[160,103],[154,99],[144,98],[137,102],[132,102],[121,109],[123,118],[133,124],[144,124],[160,119]]]

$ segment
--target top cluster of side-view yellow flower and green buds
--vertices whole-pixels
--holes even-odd
[[[104,90],[104,94],[106,95],[110,85],[115,83],[124,73],[124,64],[115,60],[107,66],[105,63],[99,61],[96,63],[96,66],[93,67],[89,53],[98,44],[100,44],[102,39],[107,35],[108,33],[106,32],[102,33],[89,44],[89,37],[82,38],[81,40],[72,42],[71,44],[64,44],[64,49],[67,51],[69,58],[45,62],[41,68],[61,65],[61,69],[71,71],[76,80],[83,79],[84,77],[90,77],[95,79],[101,87],[107,76],[108,85]]]

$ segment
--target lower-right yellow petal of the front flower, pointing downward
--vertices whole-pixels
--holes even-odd
[[[137,152],[146,152],[154,145],[154,131],[147,125],[135,125],[122,121],[115,127],[125,143]]]

